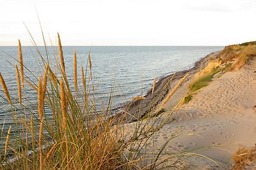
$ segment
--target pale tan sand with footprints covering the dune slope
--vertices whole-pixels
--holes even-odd
[[[216,53],[209,55],[208,59],[212,55]],[[203,59],[201,65],[205,66],[207,62],[207,59]],[[198,69],[194,69],[195,72],[189,78]],[[164,105],[169,111],[164,113],[163,119],[172,113],[173,106],[188,92],[191,84],[189,78]],[[193,156],[184,160],[180,168],[230,169],[234,166],[232,155],[238,148],[256,144],[256,60],[250,60],[249,64],[238,71],[216,74],[207,87],[198,90],[188,104],[172,113],[171,118],[175,118],[175,121],[164,125],[154,137],[155,148],[163,146],[178,130],[180,136],[168,143],[164,153],[191,149],[191,153],[198,153],[216,161]],[[132,128],[132,124],[126,126]],[[193,167],[193,162],[196,167]]]

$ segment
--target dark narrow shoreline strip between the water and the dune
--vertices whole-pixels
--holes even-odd
[[[141,118],[146,116],[147,113],[149,113],[151,110],[154,110],[157,105],[159,105],[159,103],[163,101],[163,99],[167,96],[168,92],[173,89],[173,87],[180,81],[181,78],[183,78],[186,74],[189,74],[188,78],[186,78],[184,83],[186,83],[186,81],[189,81],[196,73],[198,73],[198,71],[200,71],[200,69],[203,69],[207,65],[207,62],[211,58],[216,57],[218,53],[220,53],[220,51],[211,52],[205,57],[202,57],[200,60],[196,61],[193,67],[161,77],[156,82],[156,87],[153,94],[151,88],[150,90],[148,90],[145,96],[143,96],[145,97],[145,99],[127,102],[122,104],[122,106],[118,106],[114,109],[116,113],[113,116],[118,117],[118,119],[123,119],[125,123],[131,123],[140,120]],[[173,80],[170,81],[168,88],[164,88],[166,83],[168,83],[171,78],[173,78]],[[179,95],[179,97],[175,97],[175,102],[178,103],[181,97],[183,96]],[[152,102],[152,99],[155,100]]]

